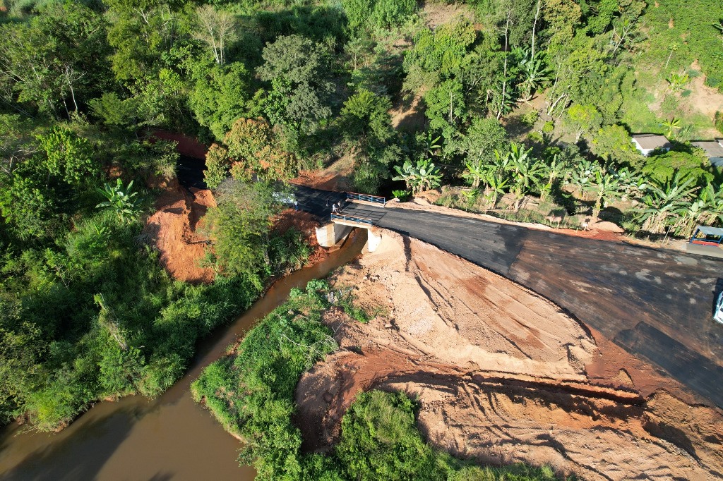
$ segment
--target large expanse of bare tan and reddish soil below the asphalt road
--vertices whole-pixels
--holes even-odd
[[[722,476],[723,412],[535,293],[380,232],[377,251],[333,277],[376,316],[325,314],[341,349],[297,386],[305,449],[329,449],[359,391],[401,389],[427,439],[458,456],[591,480]]]

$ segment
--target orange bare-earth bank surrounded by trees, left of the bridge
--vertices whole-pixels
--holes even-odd
[[[199,267],[208,238],[197,227],[208,207],[215,207],[207,189],[187,190],[175,179],[168,182],[155,203],[156,212],[146,222],[144,232],[161,252],[161,264],[176,280],[212,282],[213,269]]]

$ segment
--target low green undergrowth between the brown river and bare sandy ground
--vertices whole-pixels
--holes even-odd
[[[406,394],[360,394],[342,419],[329,454],[302,454],[292,422],[294,389],[304,371],[337,344],[320,322],[328,285],[312,281],[244,338],[235,355],[208,366],[191,386],[224,428],[244,440],[239,461],[257,480],[555,480],[549,467],[480,467],[437,451],[422,438]]]

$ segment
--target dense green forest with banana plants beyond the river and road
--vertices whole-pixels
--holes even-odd
[[[721,19],[717,0],[2,1],[2,422],[51,430],[173,384],[308,253],[271,230],[273,186],[340,157],[370,194],[719,225],[720,173],[689,141],[723,131],[698,108],[723,98]],[[143,234],[177,160],[153,129],[210,144],[211,284],[172,280]],[[636,132],[672,149],[643,157]]]

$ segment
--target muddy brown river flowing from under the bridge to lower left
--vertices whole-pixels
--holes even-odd
[[[189,386],[203,368],[256,321],[286,300],[292,287],[325,277],[354,259],[366,243],[362,229],[338,251],[278,280],[233,324],[200,345],[192,367],[157,399],[99,402],[60,433],[11,425],[0,433],[1,480],[253,480],[239,467],[239,441],[194,404]]]

